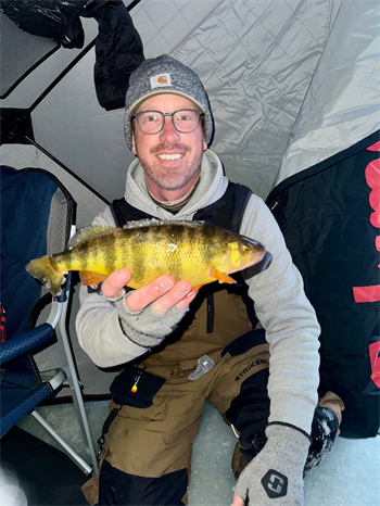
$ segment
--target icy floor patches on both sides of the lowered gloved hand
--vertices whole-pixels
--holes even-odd
[[[189,506],[230,506],[236,437],[218,412],[206,407],[193,446]],[[338,438],[332,452],[305,478],[304,506],[380,506],[380,435]]]

